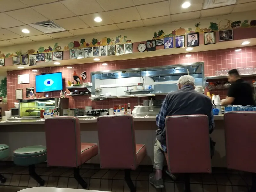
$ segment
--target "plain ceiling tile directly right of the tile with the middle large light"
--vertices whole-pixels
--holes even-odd
[[[141,19],[136,7],[108,11],[108,14],[112,20],[115,21],[115,23],[123,23]]]

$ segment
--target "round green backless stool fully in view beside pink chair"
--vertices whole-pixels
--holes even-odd
[[[28,146],[13,151],[14,164],[19,166],[28,166],[29,175],[44,186],[44,180],[36,174],[35,164],[43,163],[47,160],[46,147],[42,145]]]

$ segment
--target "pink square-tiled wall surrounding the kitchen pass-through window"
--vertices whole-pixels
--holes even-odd
[[[210,46],[210,45],[209,45]],[[175,54],[165,55],[157,57],[148,57],[141,59],[130,59],[120,61],[109,61],[107,66],[103,66],[102,62],[77,64],[72,65],[72,69],[68,69],[65,66],[56,66],[51,68],[39,68],[38,72],[32,72],[32,70],[19,70],[9,71],[7,74],[7,97],[9,108],[14,107],[13,102],[15,100],[15,90],[23,89],[23,98],[25,99],[25,90],[28,87],[35,87],[35,75],[39,75],[42,72],[62,72],[63,73],[63,86],[67,86],[67,81],[73,81],[73,71],[77,74],[83,71],[87,73],[87,79],[84,82],[89,82],[91,79],[91,71],[104,71],[104,70],[121,70],[129,68],[142,68],[142,67],[154,67],[154,66],[165,66],[175,65],[182,63],[192,62],[204,62],[205,76],[214,76],[215,71],[225,70],[232,68],[246,68],[256,67],[256,46],[243,47],[240,52],[235,52],[235,48],[232,49],[221,49],[204,52],[193,52],[189,53],[192,56],[187,58],[186,54]],[[170,49],[172,51],[172,49]],[[187,53],[188,54],[188,53]],[[18,74],[30,74],[29,84],[17,84]],[[67,90],[69,93],[69,91]],[[59,92],[50,92],[49,97],[59,97]],[[224,93],[223,93],[224,94]],[[36,94],[44,95],[42,93]],[[69,97],[70,108],[84,108],[84,106],[92,105],[95,109],[100,108],[113,108],[114,106],[124,105],[124,103],[131,103],[133,108],[137,105],[137,98],[125,98],[125,99],[108,99],[106,101],[91,101],[89,96],[75,96]]]

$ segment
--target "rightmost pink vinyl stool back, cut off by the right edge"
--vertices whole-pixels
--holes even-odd
[[[227,167],[256,173],[256,112],[225,113]]]

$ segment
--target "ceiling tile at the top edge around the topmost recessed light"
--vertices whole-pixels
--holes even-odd
[[[181,1],[181,0],[171,0],[170,1],[171,13],[177,14],[177,13],[184,13],[184,12],[191,12],[191,11],[199,11],[203,6],[203,0],[193,0],[191,2],[191,6],[186,9],[181,7],[183,3],[184,1]]]

